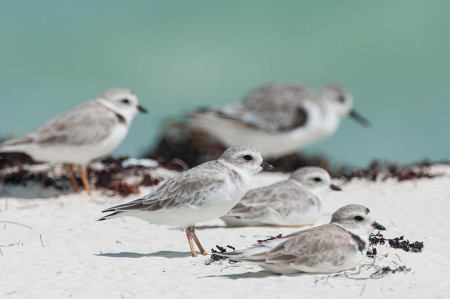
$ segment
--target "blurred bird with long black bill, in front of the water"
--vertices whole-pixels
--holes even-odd
[[[280,157],[334,134],[345,116],[368,125],[353,110],[352,96],[337,85],[318,92],[298,85],[265,85],[238,103],[192,113],[191,126],[227,146],[247,144],[264,157]]]

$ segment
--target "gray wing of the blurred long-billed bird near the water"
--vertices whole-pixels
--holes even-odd
[[[207,114],[265,131],[291,131],[308,121],[305,101],[312,98],[313,94],[302,86],[264,85],[251,91],[239,103],[194,115],[201,117]]]

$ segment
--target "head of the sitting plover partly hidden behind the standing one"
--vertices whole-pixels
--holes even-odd
[[[317,195],[322,195],[328,190],[340,191],[341,188],[331,183],[330,174],[320,167],[303,167],[294,171],[290,180],[295,180]]]

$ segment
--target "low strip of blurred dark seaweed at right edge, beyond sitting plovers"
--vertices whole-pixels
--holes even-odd
[[[430,163],[418,163],[414,165],[399,165],[383,161],[373,161],[366,168],[359,168],[350,171],[341,170],[334,173],[334,176],[340,176],[347,179],[363,178],[370,181],[387,180],[389,178],[397,179],[399,182],[434,178],[439,176],[430,172]]]

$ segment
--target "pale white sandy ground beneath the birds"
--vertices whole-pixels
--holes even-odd
[[[442,167],[447,173],[449,169]],[[254,186],[284,178],[261,174]],[[368,206],[387,227],[385,237],[423,241],[422,253],[377,246],[347,275],[279,276],[252,264],[209,263],[190,257],[179,228],[134,218],[95,222],[100,211],[132,200],[96,194],[50,199],[0,199],[1,298],[448,298],[450,290],[450,176],[398,183],[353,180],[330,193],[325,215],[348,203]],[[146,193],[148,190],[143,190]],[[245,248],[258,239],[298,228],[226,228],[219,220],[199,224],[206,248]],[[371,278],[380,267],[407,266],[406,273]]]

